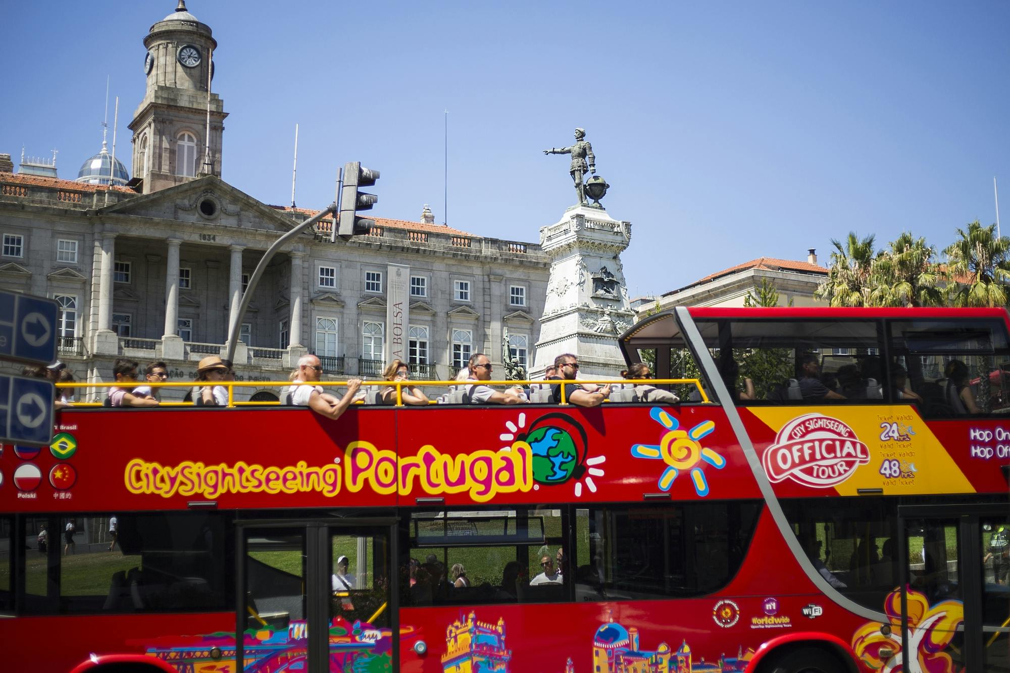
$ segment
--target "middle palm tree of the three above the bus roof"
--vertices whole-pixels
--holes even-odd
[[[936,287],[939,265],[936,250],[925,238],[905,231],[888,244],[877,259],[870,292],[873,306],[939,306],[943,293]]]

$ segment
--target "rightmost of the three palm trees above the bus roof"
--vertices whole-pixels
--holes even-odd
[[[957,228],[957,241],[943,252],[947,256],[947,292],[953,306],[1006,306],[1010,281],[1010,238],[996,236],[996,225],[979,220]]]

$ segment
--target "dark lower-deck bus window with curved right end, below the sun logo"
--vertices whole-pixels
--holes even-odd
[[[736,573],[758,522],[749,501],[576,510],[576,600],[700,596]]]

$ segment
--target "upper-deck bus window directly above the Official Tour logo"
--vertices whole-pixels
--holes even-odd
[[[734,403],[881,403],[876,320],[702,319]]]

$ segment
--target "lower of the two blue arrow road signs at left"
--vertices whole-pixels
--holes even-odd
[[[0,376],[0,442],[52,442],[54,391],[45,379]]]

